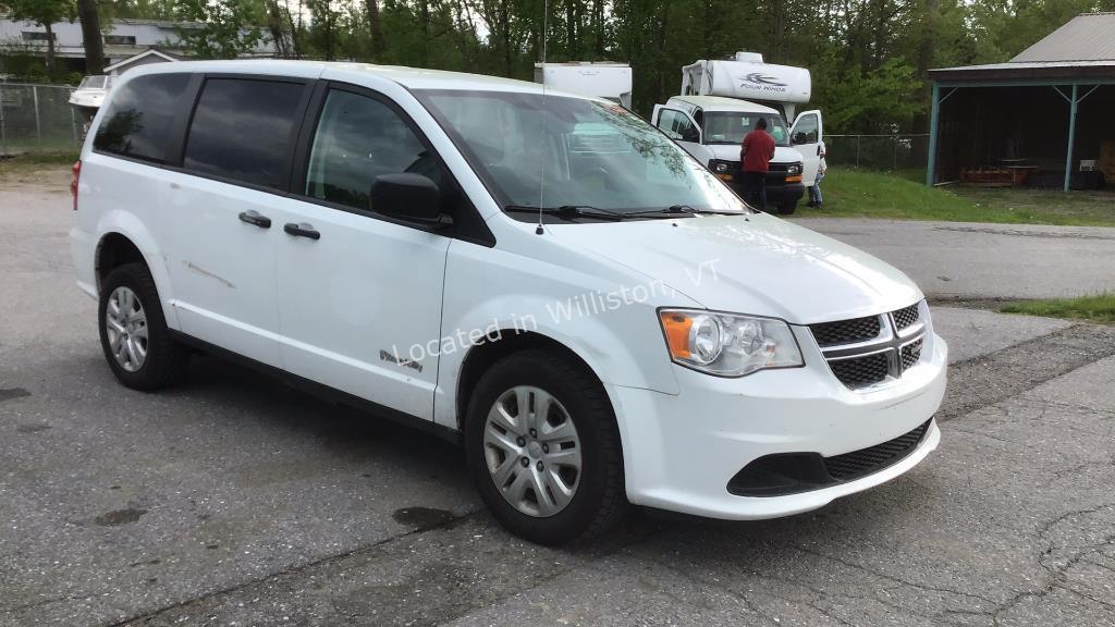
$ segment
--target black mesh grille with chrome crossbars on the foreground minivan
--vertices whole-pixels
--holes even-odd
[[[859,389],[898,379],[921,361],[925,324],[921,303],[895,311],[809,325],[833,375]]]

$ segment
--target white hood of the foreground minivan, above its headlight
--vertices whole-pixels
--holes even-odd
[[[888,263],[762,213],[550,230],[708,309],[808,325],[892,311],[923,298]]]

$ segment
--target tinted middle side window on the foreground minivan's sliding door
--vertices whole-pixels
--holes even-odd
[[[303,89],[297,83],[206,80],[190,123],[183,166],[284,190]]]

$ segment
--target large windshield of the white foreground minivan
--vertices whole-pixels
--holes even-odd
[[[505,91],[417,95],[504,209],[747,211],[702,164],[619,105]]]

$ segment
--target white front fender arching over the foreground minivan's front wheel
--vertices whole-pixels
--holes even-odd
[[[570,248],[562,247],[559,267],[545,261],[551,242],[539,238],[532,243],[530,255],[457,242],[449,247],[435,422],[457,426],[455,398],[465,356],[477,339],[498,329],[560,343],[605,387],[678,394],[657,307],[696,303],[663,283]]]

